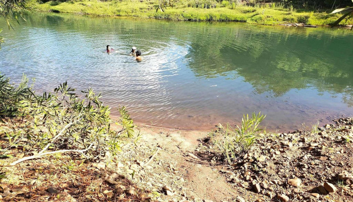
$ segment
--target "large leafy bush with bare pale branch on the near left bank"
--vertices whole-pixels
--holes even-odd
[[[8,83],[4,76],[1,78],[5,84]],[[81,91],[83,96],[78,96],[75,89],[65,82],[52,93],[44,92],[42,96],[38,96],[30,88],[26,88],[25,84],[26,82],[20,84],[19,88],[7,84],[4,88],[6,91],[0,92],[1,97],[5,98],[8,91],[14,91],[11,100],[17,106],[11,111],[6,111],[10,103],[2,106],[1,110],[7,112],[3,113],[3,118],[17,115],[29,120],[19,130],[7,132],[7,135],[9,142],[15,137],[21,140],[26,136],[28,141],[21,146],[34,155],[11,165],[63,152],[80,153],[89,160],[100,158],[106,153],[114,156],[120,150],[121,138],[134,136],[134,123],[125,107],[118,109],[121,118],[117,123],[123,126],[122,129],[110,130],[110,108],[103,105],[100,101],[101,95],[95,94],[92,89]],[[23,89],[32,96],[18,93]]]

